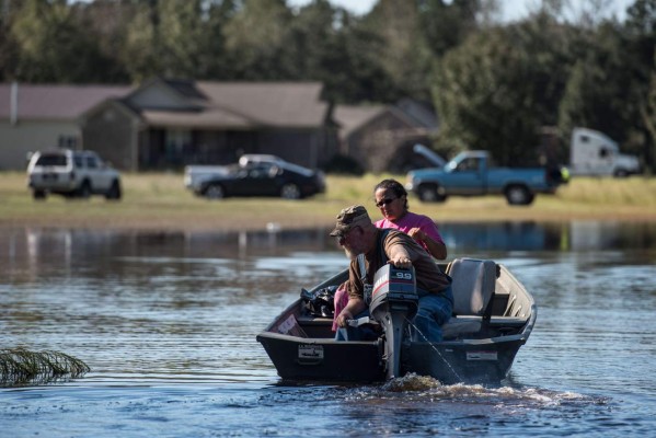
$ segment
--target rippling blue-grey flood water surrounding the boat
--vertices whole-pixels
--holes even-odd
[[[444,224],[505,264],[538,321],[500,387],[289,385],[255,341],[346,266],[327,230],[0,230],[0,348],[84,360],[0,389],[2,437],[649,436],[656,223]]]

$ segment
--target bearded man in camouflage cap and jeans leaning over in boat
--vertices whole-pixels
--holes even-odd
[[[337,315],[337,339],[358,341],[367,337],[364,330],[348,326],[348,320],[368,314],[357,262],[357,255],[364,254],[368,284],[372,284],[373,274],[385,263],[398,268],[414,266],[419,303],[413,321],[416,328],[413,337],[415,341],[441,341],[441,325],[451,318],[453,309],[451,278],[441,272],[413,238],[398,230],[376,228],[367,209],[360,205],[347,207],[337,215],[337,223],[331,235],[338,239],[350,258],[348,303]]]

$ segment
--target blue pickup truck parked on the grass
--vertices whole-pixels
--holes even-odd
[[[422,201],[497,194],[504,195],[510,205],[529,205],[536,194],[553,194],[564,182],[560,169],[495,168],[487,151],[465,151],[444,168],[410,171],[405,188]]]

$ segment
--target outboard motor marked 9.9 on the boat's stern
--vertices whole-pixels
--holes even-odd
[[[388,379],[400,374],[401,344],[418,302],[414,267],[401,269],[388,264],[376,272],[369,313],[384,330]]]

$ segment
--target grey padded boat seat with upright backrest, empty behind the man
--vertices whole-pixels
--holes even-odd
[[[445,339],[481,331],[490,320],[497,277],[496,263],[490,260],[456,258],[447,266],[453,283],[453,316],[442,325]]]

